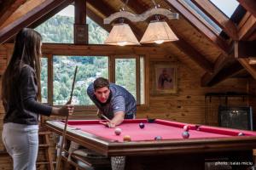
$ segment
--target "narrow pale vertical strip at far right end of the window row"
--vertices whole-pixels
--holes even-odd
[[[145,104],[145,68],[144,68],[144,57],[140,57],[140,89],[141,89],[141,102],[140,104]]]

